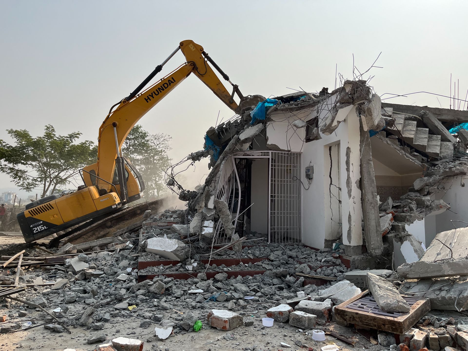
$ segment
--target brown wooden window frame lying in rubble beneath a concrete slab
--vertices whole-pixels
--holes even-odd
[[[335,315],[339,317],[339,319],[343,319],[350,324],[357,324],[362,327],[388,331],[395,334],[403,334],[431,309],[429,300],[418,300],[410,307],[409,313],[402,314],[398,317],[389,317],[346,307],[350,303],[366,296],[368,293],[369,291],[366,290],[336,306]]]

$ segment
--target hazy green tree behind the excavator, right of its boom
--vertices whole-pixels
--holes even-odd
[[[159,198],[168,191],[164,183],[164,171],[172,162],[168,156],[171,139],[164,133],[150,134],[138,124],[124,141],[122,153],[130,158],[141,173],[147,198]]]

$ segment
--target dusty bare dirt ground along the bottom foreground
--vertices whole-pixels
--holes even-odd
[[[176,312],[174,312],[176,314]],[[258,317],[257,317],[258,316]],[[137,338],[145,342],[143,350],[164,350],[164,351],[218,351],[218,350],[320,350],[327,344],[336,344],[340,351],[351,351],[357,349],[367,349],[369,351],[383,350],[380,345],[372,345],[363,336],[356,333],[355,329],[344,328],[334,325],[335,330],[349,337],[355,337],[357,344],[350,347],[333,336],[327,336],[324,342],[312,340],[305,332],[300,332],[297,328],[289,326],[287,323],[277,323],[271,328],[262,327],[263,313],[256,314],[253,326],[241,326],[231,331],[220,331],[217,329],[202,329],[198,332],[181,333],[171,336],[164,341],[154,337],[154,326],[139,328],[139,321],[136,318],[128,317],[128,320],[121,318],[106,323],[102,330],[86,330],[82,327],[71,328],[72,334],[66,332],[55,333],[51,330],[38,326],[33,329],[2,334],[0,351],[11,350],[47,350],[62,351],[66,348],[77,351],[92,351],[98,344],[88,345],[87,339],[91,336],[106,334],[106,339],[110,340],[118,336]],[[132,320],[130,320],[132,319]],[[133,321],[134,319],[134,321]],[[23,318],[21,318],[23,320]],[[207,325],[204,322],[204,328]],[[42,322],[37,322],[42,324]],[[283,328],[280,328],[283,327]],[[320,327],[320,326],[318,326]],[[330,327],[330,325],[328,325]],[[296,341],[302,345],[298,346]],[[282,346],[286,343],[292,347]],[[305,346],[307,345],[307,347]]]

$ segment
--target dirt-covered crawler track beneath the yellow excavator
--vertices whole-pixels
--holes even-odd
[[[141,220],[146,210],[158,211],[163,205],[164,200],[164,198],[161,198],[127,207],[122,211],[114,213],[94,223],[90,223],[88,226],[86,226],[86,223],[81,224],[80,227],[83,225],[86,227],[81,228],[73,234],[66,233],[61,235],[54,240],[59,240],[60,248],[68,242],[71,244],[79,244],[81,242],[112,236],[112,234],[117,230],[128,227]]]

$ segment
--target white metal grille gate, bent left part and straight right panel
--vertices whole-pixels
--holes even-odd
[[[243,234],[249,187],[246,159],[269,159],[268,242],[301,241],[301,165],[300,153],[284,151],[244,151],[223,163],[219,171],[216,198],[227,202],[235,233]],[[215,228],[214,244],[230,241],[221,222]]]

